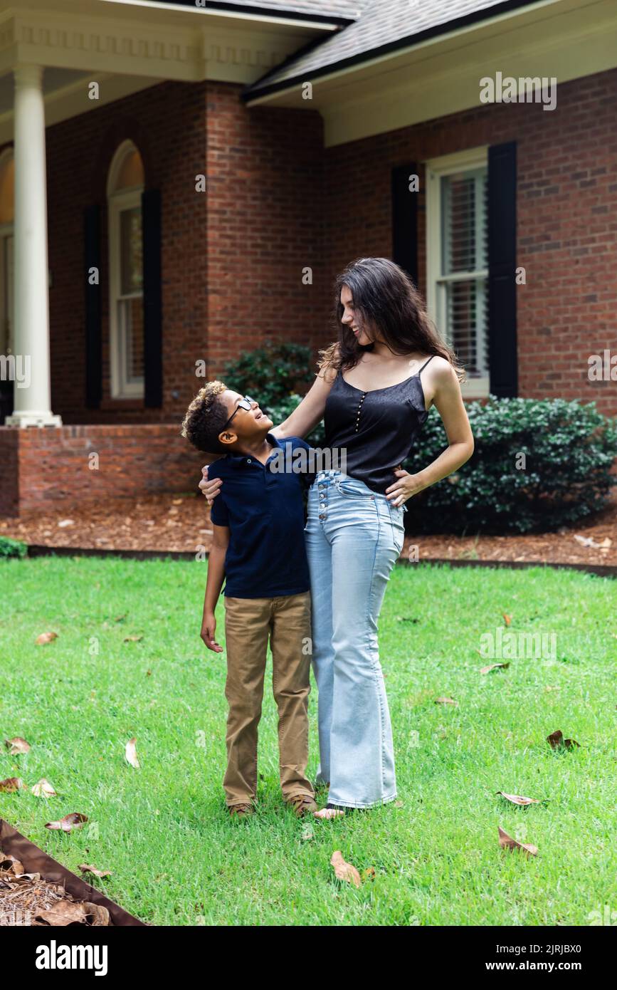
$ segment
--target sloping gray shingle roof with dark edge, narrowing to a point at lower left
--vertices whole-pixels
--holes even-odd
[[[298,0],[292,0],[298,2]],[[362,0],[359,0],[362,2]],[[271,88],[284,88],[296,78],[310,79],[322,75],[341,62],[360,60],[369,52],[396,46],[402,39],[419,41],[425,34],[451,30],[462,18],[483,20],[497,10],[524,7],[533,0],[365,0],[360,17],[316,45],[292,56],[268,72],[243,93],[245,100],[262,95]]]

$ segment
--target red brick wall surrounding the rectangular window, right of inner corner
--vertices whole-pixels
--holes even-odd
[[[615,382],[590,382],[587,357],[617,349],[617,69],[558,87],[557,109],[499,104],[325,151],[328,276],[359,255],[392,253],[391,167],[517,142],[519,394],[597,401],[617,414]],[[420,188],[424,169],[420,165]],[[418,201],[426,291],[425,201]],[[342,236],[341,236],[342,232]]]

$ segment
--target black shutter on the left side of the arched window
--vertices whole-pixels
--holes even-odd
[[[96,284],[90,269],[96,268]],[[84,210],[84,282],[86,319],[86,408],[98,409],[103,396],[101,348],[101,207]]]

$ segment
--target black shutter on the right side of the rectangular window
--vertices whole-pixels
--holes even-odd
[[[516,143],[488,148],[488,366],[490,393],[518,393]]]

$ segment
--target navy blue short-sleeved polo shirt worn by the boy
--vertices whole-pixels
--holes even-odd
[[[309,446],[299,437],[266,440],[275,449],[265,464],[227,453],[208,468],[210,480],[223,482],[211,519],[229,528],[223,590],[230,598],[298,595],[310,587],[302,474],[281,469],[284,458],[289,464],[294,450]]]

